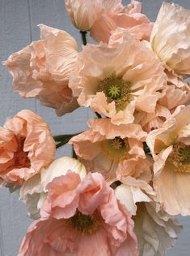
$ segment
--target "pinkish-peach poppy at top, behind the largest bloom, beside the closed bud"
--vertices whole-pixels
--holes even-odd
[[[131,1],[121,13],[99,15],[91,27],[91,37],[96,41],[108,43],[112,31],[125,28],[139,40],[150,40],[153,23],[141,14],[141,2]]]

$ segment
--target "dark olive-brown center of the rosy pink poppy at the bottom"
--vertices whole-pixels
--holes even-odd
[[[92,234],[99,228],[101,217],[95,210],[93,215],[83,215],[79,210],[69,219],[70,226],[78,232]]]

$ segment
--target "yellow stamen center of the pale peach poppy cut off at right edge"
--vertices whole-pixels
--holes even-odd
[[[175,143],[168,161],[175,166],[175,171],[190,172],[190,145]]]

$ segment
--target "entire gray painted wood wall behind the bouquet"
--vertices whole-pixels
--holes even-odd
[[[125,3],[129,1],[123,1]],[[175,0],[183,7],[190,9],[189,0]],[[160,0],[143,0],[143,12],[155,20]],[[39,38],[37,24],[47,24],[69,32],[78,41],[81,39],[78,30],[72,26],[65,11],[64,0],[0,0],[0,61]],[[15,115],[22,109],[30,109],[41,115],[50,125],[53,134],[79,132],[87,128],[86,121],[92,116],[87,109],[78,109],[71,115],[58,118],[52,109],[41,106],[34,99],[19,98],[12,92],[11,76],[6,68],[0,65],[0,125],[7,117]],[[70,147],[62,148],[58,155],[70,155]],[[179,236],[175,249],[168,256],[188,256],[190,250],[190,219],[181,218],[184,232]],[[30,219],[26,217],[25,207],[18,201],[17,194],[9,194],[6,189],[0,190],[0,256],[17,255],[20,242],[27,230]],[[44,256],[44,255],[42,255]]]

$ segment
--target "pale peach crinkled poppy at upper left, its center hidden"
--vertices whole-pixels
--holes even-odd
[[[38,98],[64,115],[78,107],[68,82],[78,56],[77,42],[65,31],[40,25],[41,40],[11,54],[4,62],[13,76],[13,90]]]

